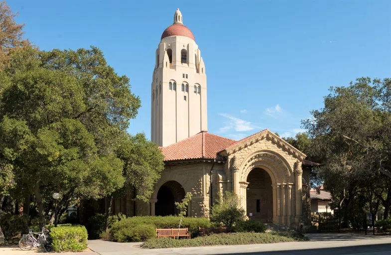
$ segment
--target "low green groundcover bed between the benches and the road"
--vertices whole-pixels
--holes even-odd
[[[141,248],[160,249],[216,245],[252,245],[299,241],[309,241],[309,239],[298,232],[229,233],[179,240],[172,238],[152,238],[145,241],[141,245]]]

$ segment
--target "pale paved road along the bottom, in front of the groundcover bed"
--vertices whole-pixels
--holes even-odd
[[[309,234],[311,242],[265,245],[213,246],[176,249],[140,249],[140,243],[89,242],[89,248],[100,255],[390,255],[391,237],[357,234]]]

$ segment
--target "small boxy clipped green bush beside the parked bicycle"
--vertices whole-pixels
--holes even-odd
[[[82,252],[87,248],[88,234],[84,226],[64,226],[52,228],[54,252]]]

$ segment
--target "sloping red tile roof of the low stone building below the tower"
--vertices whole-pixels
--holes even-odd
[[[186,139],[162,147],[161,151],[164,155],[164,161],[200,158],[223,159],[218,152],[235,142],[235,140],[223,136],[201,131]]]

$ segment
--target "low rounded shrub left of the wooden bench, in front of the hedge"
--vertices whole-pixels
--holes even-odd
[[[123,228],[113,235],[116,242],[143,242],[156,237],[156,228],[152,224],[140,224],[134,227]]]

